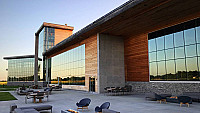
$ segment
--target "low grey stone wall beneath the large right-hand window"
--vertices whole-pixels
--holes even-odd
[[[126,82],[131,85],[134,93],[170,93],[181,95],[183,92],[200,92],[200,83],[181,82]]]

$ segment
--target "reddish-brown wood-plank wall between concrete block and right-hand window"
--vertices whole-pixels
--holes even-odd
[[[147,34],[124,40],[126,81],[149,81]]]

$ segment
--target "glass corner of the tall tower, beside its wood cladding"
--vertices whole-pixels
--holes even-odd
[[[49,48],[54,46],[55,42],[55,29],[44,27],[43,30],[39,34],[39,50],[38,50],[38,57],[42,59],[42,65],[43,67],[41,72],[41,80],[46,80],[46,61],[45,58],[43,58],[42,53],[48,50]],[[49,65],[51,65],[51,59],[48,59]],[[50,72],[50,71],[49,71]],[[49,74],[50,75],[50,74]]]

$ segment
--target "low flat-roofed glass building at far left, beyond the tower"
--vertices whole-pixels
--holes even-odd
[[[32,85],[34,83],[34,55],[4,57],[8,60],[7,85]],[[38,58],[38,79],[40,80],[41,61]]]

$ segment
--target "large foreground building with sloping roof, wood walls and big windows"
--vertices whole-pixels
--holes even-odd
[[[199,91],[199,4],[130,0],[43,51],[51,59],[46,73],[63,87],[98,93],[124,85],[138,93]]]

